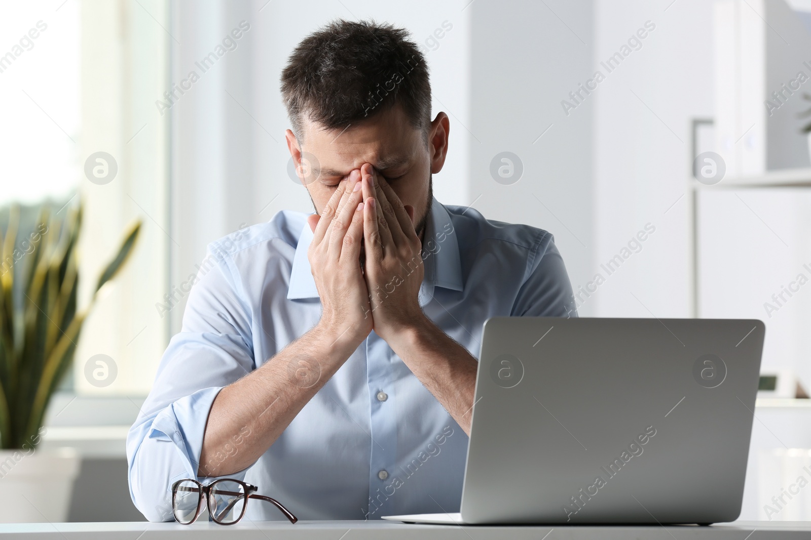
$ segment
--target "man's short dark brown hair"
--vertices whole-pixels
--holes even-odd
[[[337,19],[305,37],[281,72],[281,96],[301,141],[303,117],[345,129],[399,104],[427,140],[431,82],[409,32],[391,24]]]

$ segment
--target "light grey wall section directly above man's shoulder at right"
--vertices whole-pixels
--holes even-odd
[[[590,277],[594,249],[594,100],[560,102],[592,74],[593,2],[474,2],[470,40],[470,201],[489,219],[555,236],[573,285]],[[585,96],[585,94],[584,94]],[[518,181],[494,179],[512,152]],[[584,304],[581,316],[594,313]]]

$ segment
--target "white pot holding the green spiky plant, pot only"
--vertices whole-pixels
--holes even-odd
[[[0,523],[67,521],[78,474],[75,449],[0,450]]]

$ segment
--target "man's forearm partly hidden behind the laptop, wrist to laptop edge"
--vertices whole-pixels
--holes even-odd
[[[470,435],[478,360],[427,317],[387,342]]]

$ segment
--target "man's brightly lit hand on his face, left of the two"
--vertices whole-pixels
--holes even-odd
[[[360,267],[364,215],[360,176],[358,169],[350,172],[321,215],[307,218],[313,231],[307,257],[322,306],[318,325],[336,340],[357,344],[372,329],[369,291]]]

